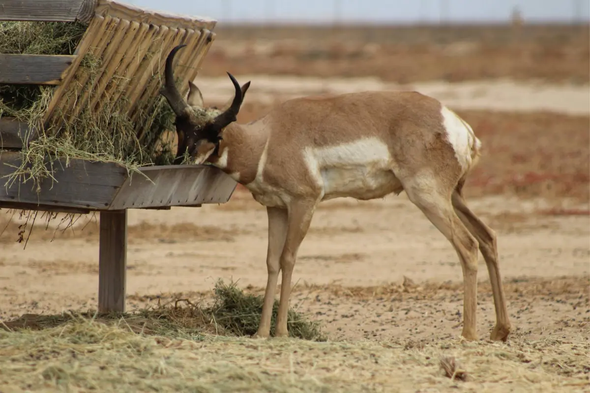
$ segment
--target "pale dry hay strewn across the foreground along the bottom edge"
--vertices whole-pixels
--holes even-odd
[[[160,333],[137,333],[125,318],[0,331],[0,384],[11,392],[582,392],[590,371],[588,345],[517,336],[414,346]],[[447,356],[461,361],[466,381],[445,375]]]

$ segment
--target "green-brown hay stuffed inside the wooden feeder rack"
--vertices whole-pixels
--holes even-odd
[[[0,53],[71,55],[86,27],[78,22],[0,22]],[[76,84],[83,73],[89,75],[88,83],[93,83],[100,67],[100,59],[87,54],[71,84]],[[113,80],[116,78],[120,76],[115,73]],[[53,86],[0,85],[0,117],[39,124],[53,90]],[[87,103],[92,98],[91,92]],[[40,130],[40,136],[22,150],[24,162],[8,184],[15,180],[37,183],[51,176],[45,157],[116,162],[130,170],[141,165],[172,163],[169,146],[156,149],[162,132],[174,129],[172,110],[163,97],[158,97],[150,110],[137,114],[135,120],[127,115],[126,104],[124,99],[96,107],[86,104],[76,117],[64,117],[57,111],[53,121]]]

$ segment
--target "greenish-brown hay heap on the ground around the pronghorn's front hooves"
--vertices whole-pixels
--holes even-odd
[[[6,322],[5,329],[47,329],[81,319],[112,324],[124,324],[131,331],[146,335],[168,336],[201,340],[208,335],[251,336],[256,333],[262,312],[263,298],[244,293],[235,283],[225,284],[219,280],[215,284],[212,302],[203,299],[174,299],[155,308],[143,309],[136,313],[123,315],[101,315],[94,312],[64,313],[62,315],[31,316],[24,315],[14,321]],[[278,311],[278,300],[273,306],[273,326]],[[289,333],[293,338],[310,341],[325,341],[319,323],[310,322],[304,315],[289,310],[287,315]],[[2,325],[0,325],[2,328]]]

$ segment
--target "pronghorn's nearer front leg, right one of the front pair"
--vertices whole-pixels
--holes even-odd
[[[297,259],[297,250],[307,234],[316,209],[315,200],[300,200],[291,203],[287,225],[287,236],[281,254],[281,298],[278,303],[277,325],[274,331],[276,337],[287,337],[287,312],[289,311],[289,296],[291,295],[291,275]]]

